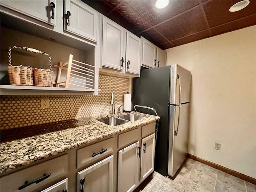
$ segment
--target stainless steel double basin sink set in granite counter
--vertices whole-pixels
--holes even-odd
[[[141,120],[145,117],[135,114],[128,114],[128,115],[122,115],[119,117],[106,117],[102,119],[97,119],[98,121],[105,123],[107,125],[115,126],[115,125],[121,125],[129,122],[134,122],[137,120]]]

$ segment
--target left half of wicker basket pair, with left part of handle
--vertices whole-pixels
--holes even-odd
[[[21,47],[12,47],[20,48]],[[20,85],[20,86],[32,86],[33,85],[33,69],[32,67],[26,66],[13,66],[12,65],[12,48],[9,47],[8,50],[8,75],[11,85]]]

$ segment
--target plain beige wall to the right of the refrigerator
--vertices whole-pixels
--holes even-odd
[[[166,51],[192,73],[189,153],[256,178],[256,26]]]

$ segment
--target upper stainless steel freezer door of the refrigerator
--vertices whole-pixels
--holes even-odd
[[[178,105],[189,102],[191,72],[174,64],[171,66],[170,104]]]

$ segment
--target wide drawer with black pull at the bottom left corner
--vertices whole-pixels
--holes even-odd
[[[24,170],[20,170],[13,174],[1,178],[1,191],[4,192],[32,192],[39,187],[48,184],[68,173],[68,155],[63,155],[46,162],[31,166]],[[47,176],[50,176],[47,178]],[[28,183],[45,178],[41,182],[34,182],[23,189],[25,182]]]

